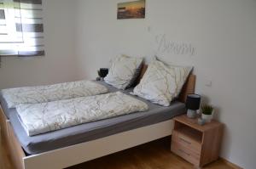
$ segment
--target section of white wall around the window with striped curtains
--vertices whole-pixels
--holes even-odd
[[[44,57],[2,58],[0,88],[77,79],[74,55],[74,3],[44,0]],[[56,12],[56,10],[58,12]]]

